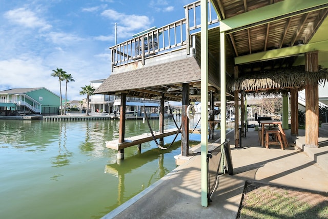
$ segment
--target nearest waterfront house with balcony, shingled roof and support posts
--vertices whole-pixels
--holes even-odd
[[[220,110],[226,112],[227,101],[234,100],[235,115],[240,112],[235,116],[238,147],[238,125],[240,121],[242,131],[248,93],[282,94],[282,126],[289,128],[290,106],[291,134],[298,135],[297,97],[305,89],[305,146],[318,147],[318,86],[328,80],[327,70],[321,68],[328,66],[327,14],[326,0],[193,2],[185,6],[179,21],[112,46],[112,73],[95,93],[121,95],[121,104],[127,96],[159,98],[161,109],[164,101],[182,100],[181,155],[188,156],[190,102],[200,101],[203,109],[210,105],[211,112],[219,100],[224,103]],[[122,117],[119,144],[125,143]],[[201,111],[201,118],[202,128],[213,122],[207,111]],[[225,116],[220,128],[226,130]],[[207,132],[201,135],[204,167]],[[226,133],[221,132],[221,143],[225,140]],[[117,157],[124,158],[121,154],[124,148]],[[205,194],[203,206],[208,205]]]

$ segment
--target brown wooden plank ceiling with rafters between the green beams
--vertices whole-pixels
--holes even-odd
[[[311,1],[316,2],[316,1]],[[321,1],[324,2],[324,1]],[[279,9],[284,11],[288,5],[303,4],[304,1],[293,0],[213,0],[212,1],[220,21],[232,17],[248,17],[253,19],[254,16],[267,12],[270,9]],[[274,4],[277,7],[273,7]],[[300,8],[300,7],[299,7]],[[253,12],[252,12],[253,11]],[[240,57],[258,52],[265,52],[285,47],[308,44],[313,35],[316,33],[324,18],[328,13],[328,3],[318,4],[312,7],[305,7],[298,11],[289,11],[286,14],[272,13],[269,19],[258,19],[256,23],[246,23],[242,27],[227,31],[227,39],[232,51],[227,51],[227,55]],[[211,39],[211,36],[209,37]],[[210,43],[216,45],[209,47],[213,54],[219,51],[218,43]],[[218,57],[218,56],[217,56]],[[219,57],[218,57],[219,58]],[[285,56],[261,62],[250,62],[239,65],[239,73],[259,72],[263,70],[272,70],[276,68],[290,67],[294,64],[297,55],[292,57]],[[231,71],[231,69],[227,69]]]

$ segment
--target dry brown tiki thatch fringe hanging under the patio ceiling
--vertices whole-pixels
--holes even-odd
[[[228,82],[227,90],[229,92],[240,90],[247,93],[284,93],[291,88],[302,88],[310,83],[321,85],[328,81],[327,69],[320,69],[318,72],[306,72],[304,69],[304,66],[297,66],[240,75]]]

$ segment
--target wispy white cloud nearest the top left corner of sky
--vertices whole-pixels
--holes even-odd
[[[27,8],[18,8],[7,11],[4,14],[10,22],[27,28],[39,28],[42,30],[50,29],[52,26]]]

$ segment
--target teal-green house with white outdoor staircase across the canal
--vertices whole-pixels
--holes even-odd
[[[0,91],[3,115],[59,114],[60,97],[47,88],[17,88]]]

